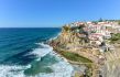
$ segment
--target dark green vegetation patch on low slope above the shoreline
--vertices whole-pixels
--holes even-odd
[[[64,52],[62,51],[61,54],[69,59],[69,61],[73,61],[73,62],[79,62],[79,63],[92,63],[90,59],[86,58],[86,57],[83,57],[76,53],[72,53],[72,52]],[[86,67],[88,67],[88,69],[86,70],[86,77],[91,77],[92,73],[91,73],[91,66],[92,64],[84,64]],[[78,74],[75,74],[75,77],[79,77]]]

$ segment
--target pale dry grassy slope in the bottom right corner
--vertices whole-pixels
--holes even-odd
[[[107,61],[102,67],[102,77],[120,77],[120,45],[116,50],[106,53]]]

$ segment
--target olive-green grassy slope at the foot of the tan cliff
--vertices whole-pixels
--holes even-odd
[[[58,48],[55,48],[54,51],[56,51],[57,53],[59,53],[62,56],[64,56],[66,59],[68,61],[72,61],[72,62],[77,62],[77,63],[90,63],[90,64],[84,64],[88,69],[92,69],[92,62],[86,57],[83,57],[76,53],[73,53],[73,52],[67,52],[67,51],[64,51],[64,50],[58,50]],[[92,74],[90,70],[88,70],[87,74]],[[79,74],[75,74],[74,77],[79,77]],[[83,76],[80,76],[83,77]],[[91,77],[91,76],[89,76]]]

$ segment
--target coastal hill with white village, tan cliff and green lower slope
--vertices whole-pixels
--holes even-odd
[[[88,72],[85,70],[80,76],[110,77],[102,69],[109,64],[110,52],[116,47],[111,42],[120,40],[113,34],[119,33],[119,21],[74,22],[64,25],[61,34],[50,45],[69,63],[85,65]]]

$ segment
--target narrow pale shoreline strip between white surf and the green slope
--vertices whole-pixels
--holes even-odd
[[[83,63],[83,62],[74,62],[74,61],[70,61],[68,58],[66,58],[58,50],[56,51],[54,47],[53,47],[53,51],[58,54],[58,56],[64,59],[65,62],[67,62],[68,64],[70,64],[74,68],[73,70],[73,74],[72,74],[72,77],[79,77],[79,76],[83,76],[83,75],[86,75],[85,70],[89,70],[91,68],[91,64],[89,66],[89,64],[86,64],[86,63]],[[81,56],[83,57],[83,56]],[[86,58],[86,57],[84,57]],[[88,59],[88,58],[86,58]],[[90,59],[89,59],[90,61]],[[89,72],[90,73],[90,72]]]

